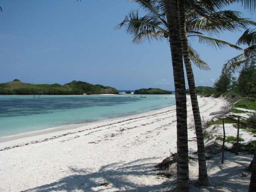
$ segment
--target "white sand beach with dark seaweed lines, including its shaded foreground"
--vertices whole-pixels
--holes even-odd
[[[204,120],[212,119],[211,112],[227,105],[220,98],[198,97],[198,102]],[[191,119],[188,102],[189,125]],[[222,134],[222,127],[215,130]],[[230,128],[226,134],[236,136],[236,129]],[[188,129],[188,140],[190,156],[196,157],[194,128]],[[0,143],[0,191],[168,191],[175,188],[176,175],[157,175],[154,166],[170,152],[176,152],[175,108],[19,138]],[[190,191],[248,191],[250,172],[247,177],[241,174],[246,172],[252,155],[225,152],[224,164],[220,153],[208,156],[211,186],[196,184],[198,165],[197,160],[192,160]],[[108,185],[101,185],[106,182]]]

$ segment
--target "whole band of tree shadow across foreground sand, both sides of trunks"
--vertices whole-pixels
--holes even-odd
[[[190,164],[190,191],[229,191],[247,192],[250,183],[250,172],[248,177],[242,177],[241,173],[246,172],[251,157],[225,153],[226,159],[221,164],[220,154],[207,160],[208,176],[211,186],[198,186],[197,184],[197,160]],[[150,162],[154,158],[139,159],[124,163],[113,163],[102,166],[98,171],[88,169],[76,169],[72,166],[73,174],[50,184],[38,186],[22,192],[52,192],[52,191],[126,191],[126,192],[149,192],[149,191],[176,191],[176,174],[170,178],[158,176],[153,171],[154,165]],[[96,162],[95,162],[96,163]],[[192,172],[195,173],[192,173]],[[137,178],[139,182],[134,182]],[[154,179],[154,182],[150,182]],[[155,180],[159,180],[156,182]],[[154,183],[154,184],[152,184]]]

